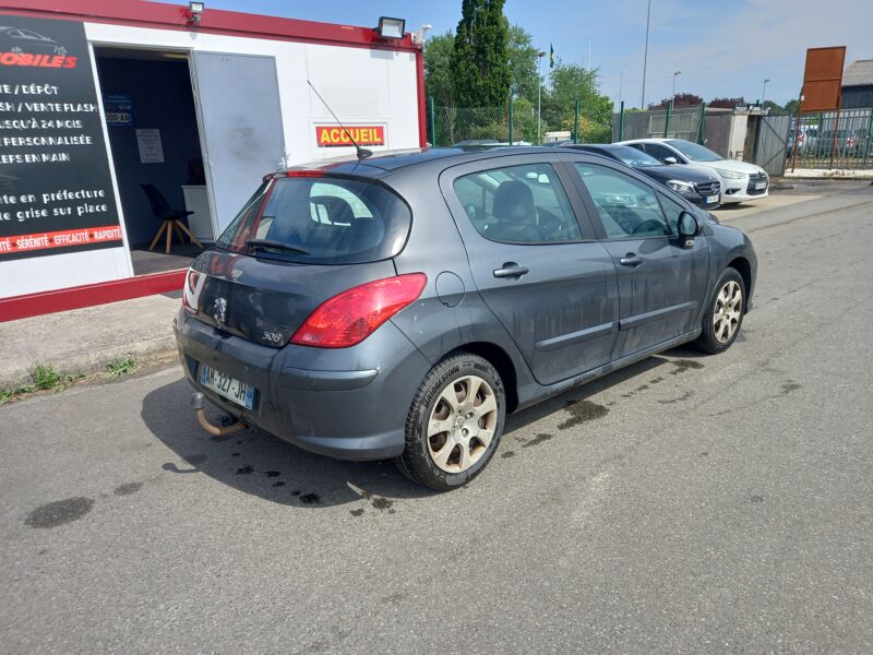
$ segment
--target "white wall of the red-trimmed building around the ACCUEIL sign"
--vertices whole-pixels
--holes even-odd
[[[350,156],[355,152],[352,147],[318,147],[315,126],[334,123],[334,119],[309,88],[308,79],[340,118],[349,117],[350,123],[386,127],[385,144],[373,146],[373,151],[419,146],[418,69],[415,52],[103,23],[85,23],[85,33],[94,46],[121,45],[181,52],[274,57],[284,126],[285,160],[288,165]],[[155,92],[158,93],[159,90],[156,88]],[[258,98],[252,98],[252,102],[258,102]],[[241,187],[246,187],[243,196],[254,189],[250,180],[241,182]],[[118,189],[116,193],[118,194]],[[121,207],[119,217],[122,230],[127,234],[127,216]],[[226,221],[216,223],[222,225]],[[3,262],[0,297],[129,277],[133,273],[129,243],[125,241],[124,246]]]

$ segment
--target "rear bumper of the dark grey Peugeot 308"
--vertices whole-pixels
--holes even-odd
[[[391,322],[352,348],[276,349],[225,334],[181,310],[176,341],[188,381],[224,412],[340,460],[384,460],[403,452],[412,395],[430,366]],[[253,408],[203,386],[203,364],[252,384]]]

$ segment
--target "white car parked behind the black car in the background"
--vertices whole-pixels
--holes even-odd
[[[721,181],[721,204],[766,198],[770,180],[761,166],[725,159],[718,153],[683,139],[633,139],[622,141],[665,164],[682,164],[714,172]]]

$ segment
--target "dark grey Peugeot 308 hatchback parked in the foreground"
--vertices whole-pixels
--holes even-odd
[[[176,338],[241,424],[446,490],[506,414],[679,344],[726,350],[756,270],[742,231],[605,157],[385,154],[267,176],[189,270]]]

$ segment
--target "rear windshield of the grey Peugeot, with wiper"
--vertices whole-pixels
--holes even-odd
[[[358,264],[395,257],[411,213],[373,182],[287,177],[264,183],[216,246],[234,252],[311,264]]]

